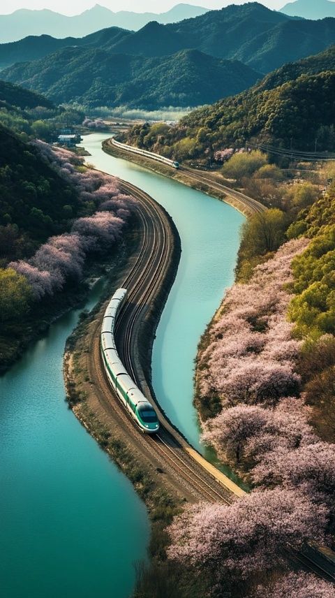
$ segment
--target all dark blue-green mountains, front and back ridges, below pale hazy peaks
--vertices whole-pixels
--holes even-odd
[[[88,108],[193,107],[241,92],[260,73],[334,43],[335,19],[294,19],[252,2],[175,24],[149,22],[140,31],[112,27],[84,38],[0,45],[0,64],[19,60],[1,78]]]

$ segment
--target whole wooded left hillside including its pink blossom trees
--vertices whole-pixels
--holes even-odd
[[[27,143],[1,124],[0,141],[3,371],[55,314],[80,300],[87,258],[110,256],[133,200],[65,149]]]

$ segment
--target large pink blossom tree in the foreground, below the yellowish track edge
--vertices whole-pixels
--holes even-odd
[[[288,545],[322,541],[326,516],[325,506],[286,489],[252,493],[232,505],[191,505],[168,528],[168,554],[220,585],[276,566]]]

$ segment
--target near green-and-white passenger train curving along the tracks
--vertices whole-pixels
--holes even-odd
[[[158,432],[159,428],[156,411],[128,375],[115,346],[115,321],[126,298],[126,289],[118,289],[107,306],[101,327],[101,356],[107,379],[113,391],[117,393],[142,432],[154,434],[154,432]]]

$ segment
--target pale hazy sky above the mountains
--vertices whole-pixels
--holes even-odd
[[[107,6],[110,10],[133,10],[136,13],[143,13],[149,10],[152,13],[163,13],[178,3],[204,6],[205,8],[223,8],[228,4],[244,4],[246,0],[0,0],[0,14],[13,13],[18,8],[50,8],[64,15],[77,15],[83,10],[91,8],[99,3]],[[288,0],[262,0],[261,3],[269,8],[282,8]],[[291,0],[292,1],[292,0]],[[316,1],[316,0],[315,0]]]

